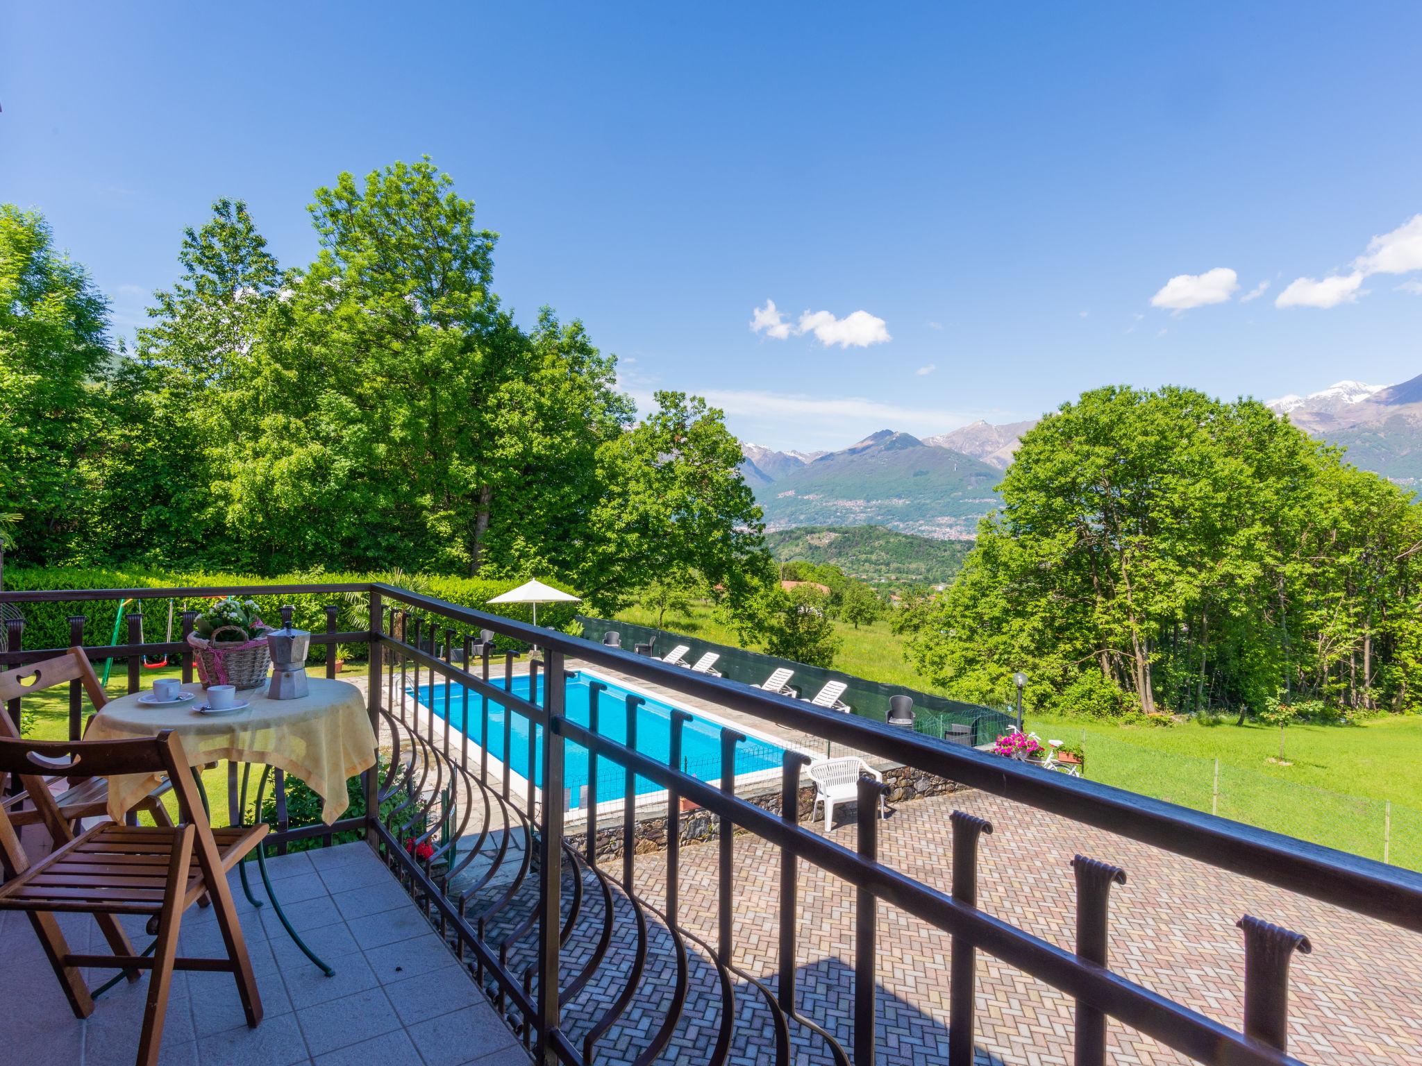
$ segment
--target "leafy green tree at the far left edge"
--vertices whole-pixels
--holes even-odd
[[[108,301],[38,212],[0,205],[0,510],[16,563],[84,550],[85,463],[102,448]]]

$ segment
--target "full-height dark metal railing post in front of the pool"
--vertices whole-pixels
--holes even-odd
[[[538,976],[538,1062],[557,1066],[552,1033],[562,1018],[559,1011],[559,934],[563,895],[563,711],[567,678],[563,652],[545,652],[545,709],[543,729],[543,820],[539,839],[539,976]],[[532,723],[529,725],[532,731]],[[529,776],[533,768],[529,766]]]

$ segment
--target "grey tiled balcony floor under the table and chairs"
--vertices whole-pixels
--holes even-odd
[[[324,976],[300,954],[270,907],[255,911],[233,874],[262,994],[262,1025],[247,1029],[232,975],[179,971],[168,1001],[164,1063],[528,1066],[528,1053],[365,844],[273,858],[269,870],[293,925],[336,976]],[[252,880],[257,898],[264,898],[260,880]],[[107,949],[92,918],[61,922],[74,951]],[[139,922],[129,931],[137,945],[148,944]],[[179,954],[220,954],[210,910],[183,915]],[[146,976],[111,989],[81,1022],[70,1012],[28,920],[10,912],[0,914],[0,974],[6,1003],[0,1062],[134,1062]],[[91,971],[90,986],[112,974]]]

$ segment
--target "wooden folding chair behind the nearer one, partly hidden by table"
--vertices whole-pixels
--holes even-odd
[[[78,681],[84,687],[84,692],[94,705],[95,714],[104,709],[108,695],[105,695],[104,687],[98,682],[94,665],[88,661],[88,655],[84,654],[84,648],[70,648],[64,655],[57,655],[53,659],[31,662],[0,674],[0,702],[18,699],[46,688],[54,688],[55,685],[63,685],[65,681]],[[85,733],[92,722],[94,716],[91,715],[88,723],[84,726]],[[10,715],[4,714],[3,709],[0,709],[0,738],[20,738],[14,723],[10,721]],[[81,819],[100,817],[108,813],[108,782],[102,777],[91,777],[90,780],[77,783],[68,782],[68,787],[65,787],[65,783],[60,777],[48,777],[44,779],[44,786],[51,793],[60,789],[60,793],[55,796],[60,813],[75,829]],[[168,809],[162,803],[162,796],[169,787],[171,785],[165,780],[139,800],[134,809],[146,812],[156,826],[172,826]],[[10,816],[11,826],[18,829],[21,826],[43,823],[44,819],[40,816],[38,809],[33,803],[28,803],[28,799],[24,792],[20,792],[14,796],[7,796],[0,803],[0,809]],[[28,806],[28,810],[24,809],[26,806]],[[57,841],[55,846],[58,846]]]

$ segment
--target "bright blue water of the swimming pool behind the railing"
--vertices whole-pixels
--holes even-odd
[[[566,711],[567,716],[582,726],[589,726],[589,702],[592,688],[590,678],[584,674],[574,674],[567,681]],[[491,679],[491,684],[503,688],[503,678]],[[619,688],[611,682],[603,682],[607,688],[597,698],[597,731],[603,736],[626,743],[627,741],[627,704],[629,689]],[[528,677],[513,678],[513,695],[529,696]],[[641,695],[634,694],[634,695]],[[637,750],[643,755],[667,762],[671,752],[671,708],[651,696],[643,696],[647,702],[637,708]],[[448,688],[448,702],[445,685],[437,682],[434,687],[419,687],[419,702],[431,708],[439,718],[445,719],[455,729],[461,729],[469,736],[469,763],[478,762],[476,750],[483,735],[483,715],[489,716],[489,756],[505,762],[513,768],[515,773],[525,779],[529,776],[529,726],[533,725],[523,715],[513,712],[509,732],[512,758],[503,758],[503,716],[505,708],[492,699],[483,699],[474,691],[466,691],[464,685],[451,684]],[[539,675],[536,704],[543,702],[543,677]],[[465,718],[468,715],[468,721]],[[543,785],[543,760],[540,741],[542,726],[533,725],[533,783]],[[754,773],[757,770],[778,769],[785,750],[765,741],[745,741],[737,745],[735,773]],[[681,731],[681,769],[691,776],[705,782],[721,780],[721,726],[695,718],[687,722]],[[569,792],[569,806],[583,807],[587,803],[587,749],[569,742],[563,755],[563,785]],[[621,799],[627,787],[626,773],[606,755],[597,759],[597,802]],[[661,786],[646,777],[637,777],[637,792],[660,792]]]

